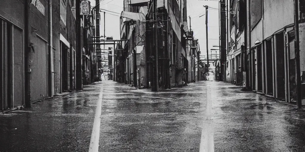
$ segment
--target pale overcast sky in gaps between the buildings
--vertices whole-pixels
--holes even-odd
[[[95,0],[90,0],[91,6],[95,6]],[[199,17],[206,13],[203,5],[208,5],[209,7],[215,9],[208,9],[208,36],[209,36],[209,50],[216,47],[212,45],[219,45],[219,14],[218,14],[218,0],[187,0],[187,16],[191,17],[191,26],[194,31],[195,38],[199,39],[199,45],[201,50],[201,55],[206,55],[206,25],[205,25],[205,15]],[[123,11],[123,0],[102,0],[100,2],[100,8],[106,9],[106,25],[105,25],[105,35],[113,36],[113,39],[120,39],[120,13]],[[104,10],[102,10],[104,11]],[[111,12],[109,12],[111,11]],[[116,13],[113,13],[116,12]],[[119,14],[118,14],[119,13]],[[117,16],[116,16],[117,15]],[[104,35],[104,16],[101,12],[101,26],[100,34]],[[188,17],[188,28],[189,28],[189,17]],[[113,47],[113,46],[109,46]],[[106,46],[108,48],[108,46]],[[209,51],[209,54],[211,51]],[[213,52],[214,54],[215,52]],[[217,50],[217,54],[219,54]]]

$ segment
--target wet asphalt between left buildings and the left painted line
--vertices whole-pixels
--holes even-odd
[[[100,85],[0,115],[0,151],[88,151]]]

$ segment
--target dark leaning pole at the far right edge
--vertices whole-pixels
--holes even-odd
[[[298,109],[302,108],[301,98],[301,72],[300,72],[300,41],[299,41],[299,1],[294,0],[294,52],[296,62],[296,105]]]

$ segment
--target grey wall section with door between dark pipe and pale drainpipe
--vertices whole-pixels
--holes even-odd
[[[38,9],[37,5],[44,9]],[[36,5],[36,6],[35,6]],[[49,95],[49,13],[48,3],[43,0],[32,1],[30,4],[29,24],[31,26],[30,41],[34,49],[31,49],[30,60],[30,89],[31,101],[41,100]]]

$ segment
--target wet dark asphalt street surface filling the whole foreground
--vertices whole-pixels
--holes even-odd
[[[160,92],[113,81],[0,115],[0,151],[88,151],[103,86],[99,151],[305,151],[305,112],[202,81]]]

